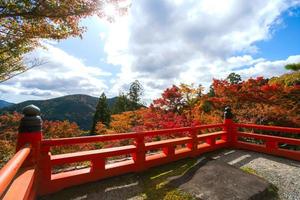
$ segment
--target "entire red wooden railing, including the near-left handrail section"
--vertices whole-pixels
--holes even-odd
[[[240,129],[250,129],[250,131],[242,132]],[[300,134],[300,128],[238,124],[233,123],[230,118],[225,119],[222,124],[60,139],[42,139],[41,132],[36,132],[36,129],[34,129],[35,132],[30,130],[26,129],[28,133],[24,131],[25,134],[20,132],[17,146],[31,144],[31,151],[29,148],[19,150],[1,170],[0,191],[4,193],[2,196],[6,199],[12,197],[10,195],[20,188],[20,184],[23,184],[24,188],[26,183],[29,189],[24,190],[22,194],[19,193],[19,196],[14,199],[33,199],[36,193],[44,195],[73,185],[129,172],[140,172],[153,166],[186,157],[199,156],[220,148],[247,149],[300,161],[299,150],[287,150],[282,147],[282,144],[300,147],[300,139],[266,135],[253,131]],[[154,136],[160,136],[161,140],[153,141],[151,138]],[[58,155],[51,155],[50,152],[50,149],[56,146],[124,139],[133,142],[124,146]],[[261,144],[257,144],[255,140],[260,140]],[[128,155],[127,159],[113,163],[106,162],[111,157],[122,155]],[[25,164],[22,165],[23,161]],[[52,173],[52,168],[56,166],[82,161],[88,161],[91,164],[82,169]],[[9,185],[20,167],[22,174]]]

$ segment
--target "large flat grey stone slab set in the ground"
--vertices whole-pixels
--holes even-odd
[[[201,200],[276,199],[265,179],[220,160],[199,162],[170,184]]]

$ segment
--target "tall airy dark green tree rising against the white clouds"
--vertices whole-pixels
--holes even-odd
[[[141,96],[143,95],[143,92],[143,86],[138,80],[131,83],[128,93],[130,110],[137,110],[141,107]]]

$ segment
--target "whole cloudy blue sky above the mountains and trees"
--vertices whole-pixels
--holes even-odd
[[[43,41],[47,50],[28,57],[47,63],[0,85],[0,99],[113,97],[138,79],[150,102],[172,84],[208,88],[231,72],[278,76],[287,63],[300,62],[299,0],[128,2],[128,15],[114,23],[83,20],[83,39]]]

